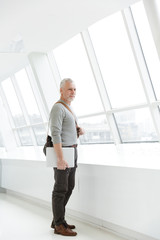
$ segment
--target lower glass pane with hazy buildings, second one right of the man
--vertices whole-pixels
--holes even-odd
[[[123,142],[158,141],[148,108],[115,113]]]

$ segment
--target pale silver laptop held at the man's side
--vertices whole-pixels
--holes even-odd
[[[74,167],[74,148],[64,147],[62,148],[64,160],[68,163],[68,166]],[[57,167],[57,156],[53,147],[47,147],[46,149],[46,162],[47,167]]]

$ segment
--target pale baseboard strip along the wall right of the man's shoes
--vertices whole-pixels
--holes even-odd
[[[72,209],[67,209],[67,215],[71,218],[77,219],[78,221],[86,222],[94,227],[98,227],[100,229],[106,230],[107,232],[111,232],[114,235],[122,237],[126,240],[158,240],[157,238],[147,236],[143,233],[127,229],[125,227],[92,217],[90,215]]]

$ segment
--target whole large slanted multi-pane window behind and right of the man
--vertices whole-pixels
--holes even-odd
[[[73,106],[86,130],[80,138],[83,144],[158,141],[160,119],[149,97],[154,91],[160,97],[158,56],[143,3],[128,10],[130,16],[133,12],[130,18],[123,10],[112,14],[90,26],[88,35],[82,33],[83,41],[77,35],[53,51],[61,78],[71,77],[77,85]],[[127,29],[130,20],[134,30]],[[134,48],[134,41],[139,48]],[[138,54],[143,56],[150,85],[135,57]],[[97,89],[103,86],[100,98]]]

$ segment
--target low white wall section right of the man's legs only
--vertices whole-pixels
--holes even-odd
[[[159,239],[159,183],[159,170],[80,165],[69,208]]]

